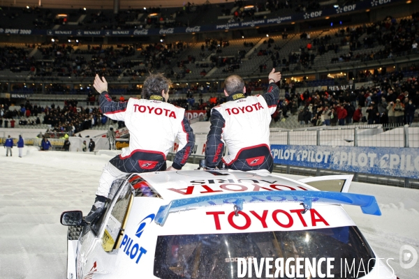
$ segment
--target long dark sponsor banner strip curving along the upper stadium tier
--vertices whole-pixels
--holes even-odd
[[[131,30],[42,30],[42,29],[3,29],[0,34],[12,35],[47,35],[47,36],[152,36],[175,33],[196,33],[210,32],[229,29],[243,29],[249,27],[260,27],[272,24],[290,24],[296,21],[311,20],[326,16],[341,15],[344,13],[360,12],[370,8],[378,8],[391,3],[401,2],[402,0],[372,0],[358,1],[345,6],[336,8],[325,8],[310,10],[303,13],[288,15],[286,17],[272,17],[260,20],[247,20],[243,22],[228,22],[222,24],[205,24],[193,27],[172,27],[161,29],[131,29]],[[404,1],[404,0],[403,0]],[[269,16],[269,14],[268,14]],[[333,20],[331,20],[333,21]]]

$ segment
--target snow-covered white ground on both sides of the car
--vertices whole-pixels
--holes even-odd
[[[59,224],[60,214],[89,211],[112,155],[25,147],[18,158],[16,148],[13,152],[13,157],[5,156],[6,149],[0,155],[0,278],[65,278],[67,228]],[[419,278],[419,262],[412,269],[399,265],[403,245],[419,252],[419,190],[354,182],[350,192],[374,195],[380,204],[383,216],[345,206],[375,252],[394,258],[390,265],[399,278]]]

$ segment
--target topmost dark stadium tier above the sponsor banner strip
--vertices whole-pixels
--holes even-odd
[[[253,1],[252,1],[253,2]],[[256,2],[256,3],[255,3]],[[292,13],[308,12],[330,5],[319,6],[319,1],[235,1],[234,3],[186,3],[183,7],[113,10],[39,8],[23,6],[3,8],[2,28],[101,30],[101,29],[151,29],[193,27],[203,24],[225,24],[243,20],[259,20],[267,15],[281,17]],[[24,19],[24,20],[22,20]]]

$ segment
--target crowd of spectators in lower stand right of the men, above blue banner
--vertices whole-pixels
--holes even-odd
[[[316,90],[298,93],[286,84],[286,96],[280,100],[279,121],[288,113],[297,115],[301,125],[344,126],[352,123],[411,124],[419,109],[419,67],[411,66],[416,75],[404,78],[402,72],[377,76],[374,86],[346,90]]]

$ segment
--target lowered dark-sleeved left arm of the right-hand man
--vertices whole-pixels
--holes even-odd
[[[212,109],[210,133],[207,135],[207,144],[205,147],[206,165],[214,169],[219,165],[224,151],[224,143],[221,140],[223,128],[226,126],[226,120],[218,110]]]

